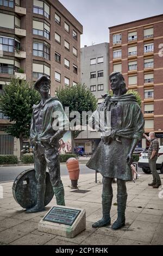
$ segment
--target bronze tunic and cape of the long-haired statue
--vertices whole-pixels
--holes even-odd
[[[103,139],[101,140],[86,166],[98,170],[108,178],[131,180],[131,168],[126,158],[132,139],[141,139],[144,132],[141,108],[133,94],[124,94],[106,97],[97,108],[97,112],[100,111],[111,111],[110,135],[114,132],[114,136],[109,144],[104,144]]]

